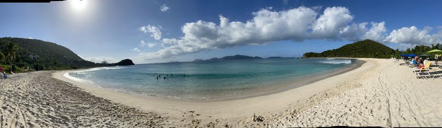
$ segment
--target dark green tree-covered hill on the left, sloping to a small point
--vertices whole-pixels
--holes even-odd
[[[114,64],[86,61],[56,43],[24,38],[0,38],[0,67],[10,72],[78,69],[98,66],[130,65],[126,59]]]

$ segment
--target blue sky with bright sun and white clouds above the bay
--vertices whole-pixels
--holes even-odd
[[[136,64],[228,55],[302,57],[370,39],[442,43],[441,0],[67,0],[0,3],[0,37]]]

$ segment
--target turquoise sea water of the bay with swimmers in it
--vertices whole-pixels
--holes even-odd
[[[136,64],[69,72],[68,78],[128,93],[214,100],[260,95],[353,64],[350,59],[254,59]],[[157,76],[161,74],[161,78]],[[166,74],[168,76],[166,76]],[[185,77],[183,77],[185,74]],[[173,76],[171,76],[173,75]],[[163,76],[167,78],[164,79]]]

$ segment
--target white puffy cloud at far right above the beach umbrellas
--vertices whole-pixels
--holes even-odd
[[[442,43],[442,30],[436,34],[428,34],[431,27],[424,27],[422,30],[415,26],[403,27],[393,30],[384,40],[389,43],[409,43],[409,44],[436,44]]]

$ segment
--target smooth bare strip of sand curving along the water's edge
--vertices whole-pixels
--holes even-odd
[[[363,59],[362,61],[366,60]],[[337,83],[341,79],[347,78],[348,76],[351,76],[355,73],[358,74],[358,72],[369,69],[371,66],[373,66],[373,63],[367,61],[367,63],[360,64],[360,67],[358,66],[355,69],[347,71],[345,73],[337,74],[308,85],[292,88],[279,93],[235,100],[211,102],[192,102],[154,96],[138,96],[134,94],[115,91],[112,89],[83,85],[81,83],[69,80],[68,78],[65,78],[63,76],[64,73],[70,70],[55,72],[53,77],[77,85],[78,87],[83,88],[86,92],[90,92],[93,95],[110,99],[114,102],[129,105],[132,107],[137,107],[144,110],[152,110],[158,113],[164,113],[171,117],[179,117],[181,111],[194,110],[216,117],[244,118],[253,115],[253,113],[256,113],[257,110],[262,112],[275,112],[275,110],[287,107],[293,102],[307,99],[312,95],[330,89],[331,87],[333,87],[333,85],[335,85],[331,83]]]

